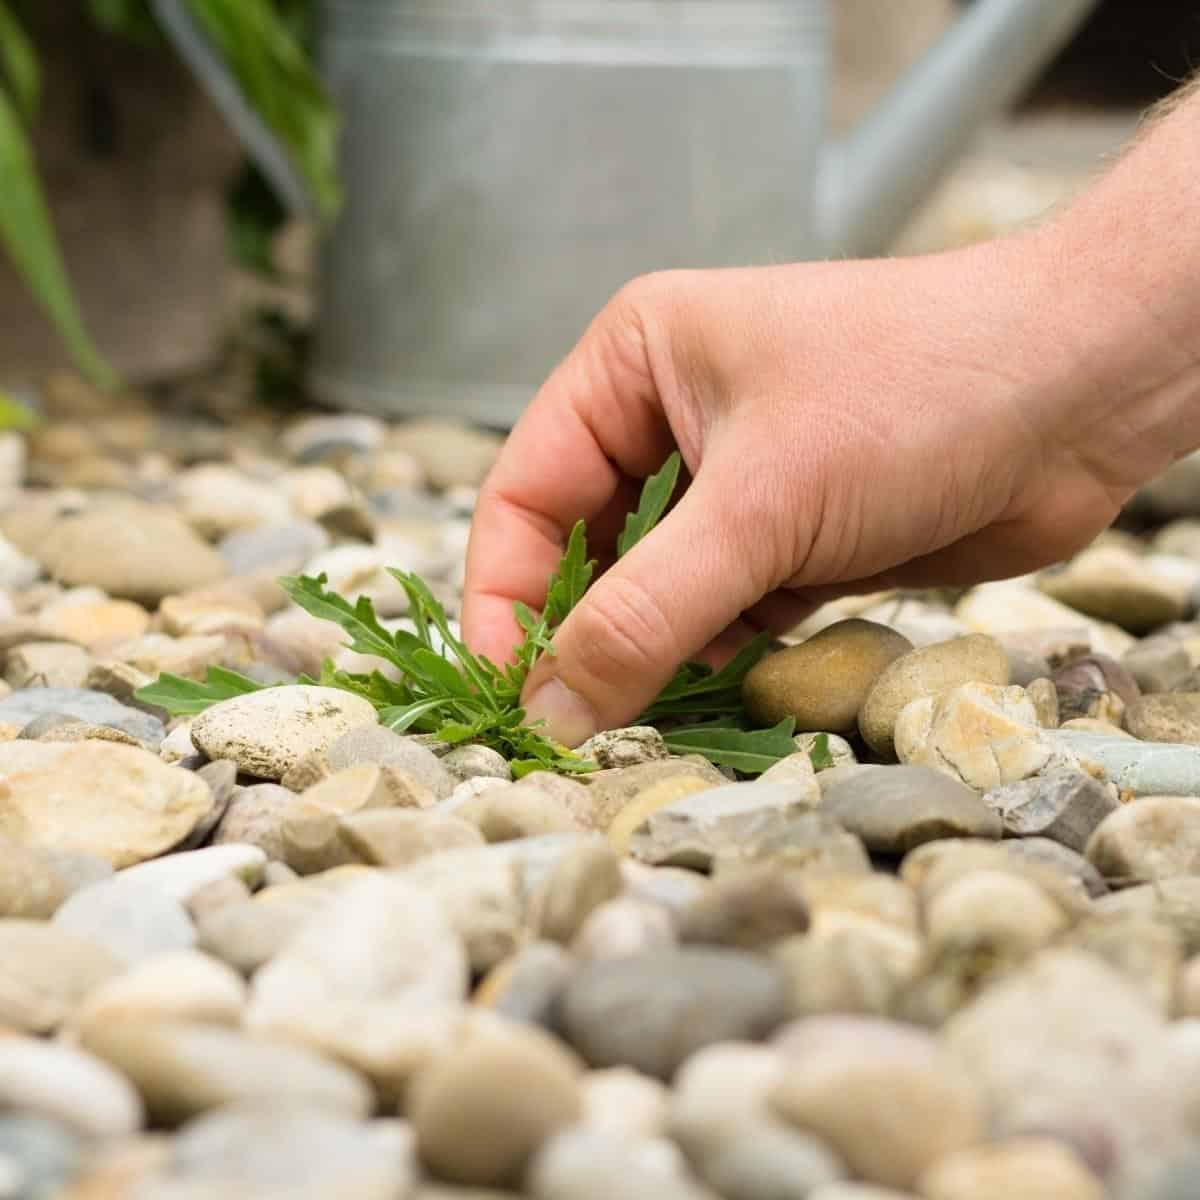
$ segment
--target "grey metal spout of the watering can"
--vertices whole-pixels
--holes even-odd
[[[1020,96],[1096,0],[973,0],[966,13],[844,139],[817,192],[833,257],[883,253],[989,118]]]

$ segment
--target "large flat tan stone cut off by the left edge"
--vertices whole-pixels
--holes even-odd
[[[212,808],[203,779],[107,742],[2,743],[0,778],[0,834],[118,868],[178,846]]]

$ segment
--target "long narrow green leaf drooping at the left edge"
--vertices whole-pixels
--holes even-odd
[[[53,322],[79,368],[97,385],[116,383],[76,305],[54,236],[34,155],[17,108],[0,90],[0,245]]]

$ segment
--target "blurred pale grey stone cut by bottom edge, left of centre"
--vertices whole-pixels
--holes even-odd
[[[149,1200],[396,1200],[416,1186],[412,1142],[396,1122],[360,1123],[308,1106],[232,1104],[184,1126],[161,1176],[163,1190],[149,1189]]]

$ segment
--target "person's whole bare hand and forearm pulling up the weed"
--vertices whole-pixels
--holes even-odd
[[[1034,230],[916,258],[636,280],[480,493],[463,630],[497,660],[578,518],[600,575],[526,686],[577,745],[685,659],[830,598],[1056,562],[1200,446],[1200,89]],[[641,481],[686,492],[619,563]]]

